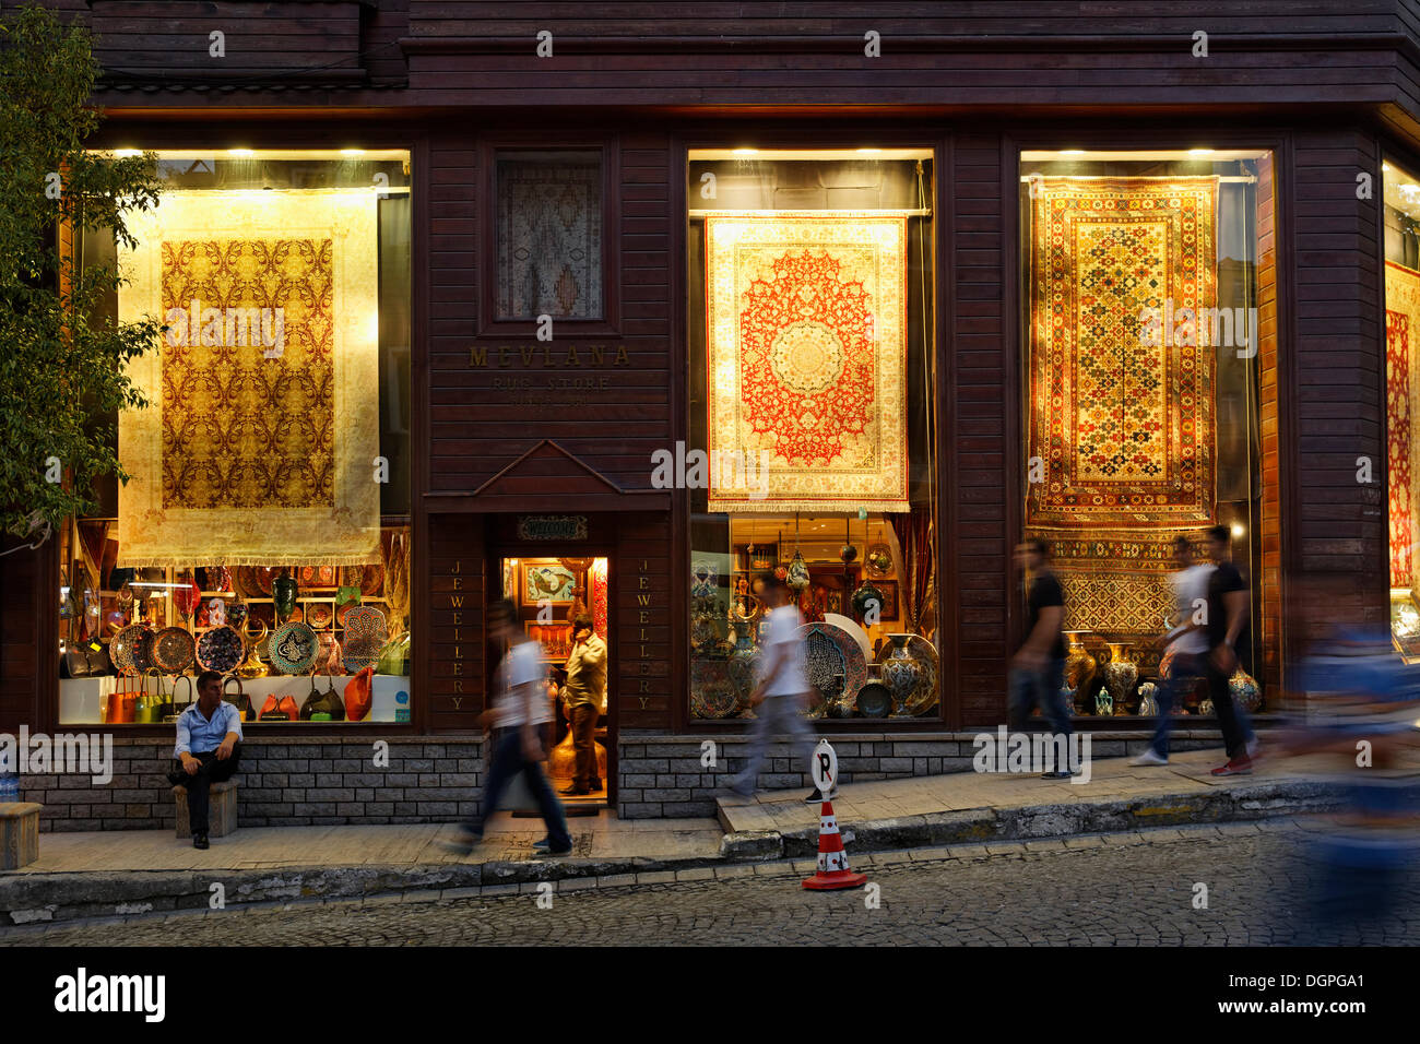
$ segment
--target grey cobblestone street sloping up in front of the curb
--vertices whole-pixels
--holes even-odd
[[[1318,875],[1304,837],[1269,822],[861,855],[853,866],[880,889],[878,909],[862,889],[805,892],[805,864],[780,862],[567,881],[550,909],[523,885],[14,929],[0,945],[172,945],[175,932],[239,946],[1420,945],[1414,872],[1380,923],[1308,935]],[[1207,909],[1194,909],[1198,882]]]

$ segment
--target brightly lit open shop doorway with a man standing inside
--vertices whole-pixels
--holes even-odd
[[[542,646],[555,689],[547,773],[568,815],[606,807],[609,764],[606,679],[612,672],[609,561],[606,558],[503,558],[503,594],[518,624]],[[589,741],[589,750],[588,750]]]

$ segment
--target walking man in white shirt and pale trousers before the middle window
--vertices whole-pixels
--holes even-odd
[[[772,572],[765,572],[754,582],[754,592],[770,607],[770,629],[760,652],[760,683],[750,696],[754,707],[754,727],[750,732],[750,754],[734,783],[731,793],[738,797],[754,794],[764,763],[764,749],[771,736],[787,733],[791,743],[799,749],[805,770],[812,764],[814,730],[808,727],[801,710],[812,705],[815,693],[804,669],[804,642],[799,638],[798,608],[790,602],[788,588]],[[838,797],[838,787],[826,800]],[[807,804],[818,804],[825,795],[818,787],[804,798]]]

